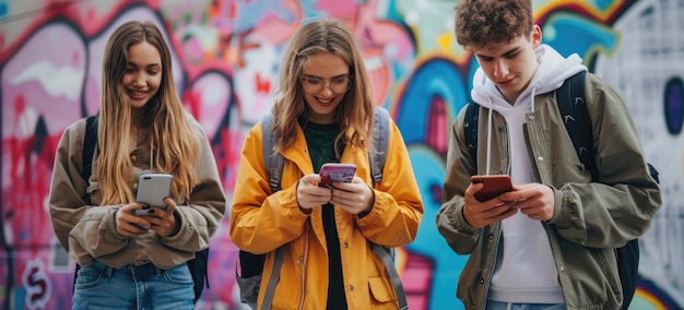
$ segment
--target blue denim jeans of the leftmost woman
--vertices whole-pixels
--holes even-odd
[[[187,264],[169,270],[152,263],[113,269],[93,262],[79,270],[72,309],[194,309],[193,297]]]

